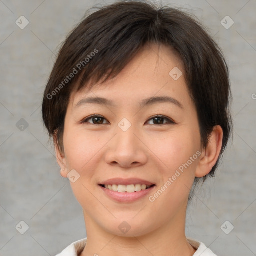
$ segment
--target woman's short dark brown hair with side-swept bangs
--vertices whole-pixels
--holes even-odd
[[[150,42],[168,45],[179,54],[197,110],[201,144],[206,147],[213,127],[220,125],[223,153],[232,120],[228,67],[221,49],[191,14],[139,1],[99,8],[77,25],[61,47],[44,91],[42,117],[62,152],[70,93],[90,79],[95,84],[115,77]],[[219,159],[206,176],[214,175]]]

